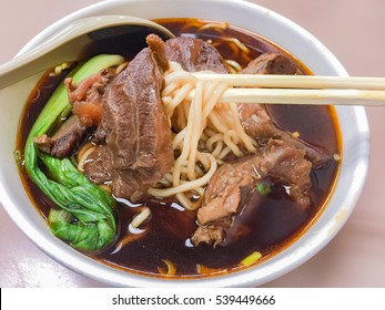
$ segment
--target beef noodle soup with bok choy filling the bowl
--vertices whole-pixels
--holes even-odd
[[[176,38],[149,35],[134,59],[114,43],[124,59],[101,73],[75,81],[68,73],[77,64],[63,64],[37,85],[18,140],[26,189],[54,235],[114,268],[212,277],[260,264],[327,204],[341,157],[334,107],[210,101],[227,86],[190,72],[311,72],[226,23],[156,22]],[[70,110],[30,137],[64,84]]]

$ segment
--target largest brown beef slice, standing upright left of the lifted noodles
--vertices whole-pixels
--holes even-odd
[[[111,182],[113,195],[132,202],[142,199],[174,161],[171,128],[160,96],[169,64],[165,46],[154,34],[146,41],[149,48],[113,80],[103,96],[105,144],[98,148],[98,155],[105,161],[84,167],[90,179]]]

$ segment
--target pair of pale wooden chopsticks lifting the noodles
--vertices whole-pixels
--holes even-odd
[[[385,105],[385,78],[193,74],[232,86],[221,100],[224,103]]]

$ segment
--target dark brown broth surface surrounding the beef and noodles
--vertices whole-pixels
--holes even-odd
[[[175,35],[193,35],[211,40],[213,44],[217,45],[225,59],[235,59],[242,65],[264,52],[285,53],[274,44],[235,28],[221,31],[212,29],[197,31],[201,25],[205,24],[204,22],[183,19],[158,20],[158,22],[169,28]],[[235,50],[229,48],[229,42],[225,43],[223,38],[237,38],[251,49],[251,53],[249,55],[235,54]],[[116,49],[119,50],[119,46]],[[290,56],[287,53],[285,54]],[[304,73],[310,73],[306,68],[303,66],[302,69]],[[57,84],[58,79],[47,78],[31,95],[21,121],[18,142],[20,149],[24,145],[32,123]],[[32,99],[38,92],[40,92],[40,96],[33,101]],[[337,123],[332,107],[274,105],[271,113],[283,128],[290,132],[300,132],[307,142],[326,148],[330,154],[338,153]],[[159,276],[159,267],[165,269],[162,259],[172,261],[179,276],[199,276],[196,275],[196,265],[226,269],[229,272],[234,271],[239,268],[239,262],[255,250],[263,255],[263,259],[266,259],[293,242],[316,217],[327,200],[336,173],[337,164],[335,162],[325,169],[312,172],[314,185],[312,207],[306,211],[301,210],[290,200],[284,188],[280,186],[267,197],[257,198],[256,195],[252,197],[249,202],[250,207],[246,208],[247,216],[240,218],[240,220],[246,219],[244,224],[250,228],[250,234],[225,247],[189,246],[189,238],[196,228],[195,213],[181,211],[172,207],[178,206],[173,199],[145,202],[144,205],[149,206],[152,213],[150,220],[141,226],[145,232],[141,238],[121,247],[122,242],[126,241],[128,236],[133,236],[129,232],[128,226],[141,206],[120,203],[118,205],[120,224],[118,241],[111,249],[93,257],[120,269],[153,276]],[[32,200],[41,214],[47,217],[52,203],[32,184],[24,172],[22,172],[22,177]],[[253,204],[253,199],[262,199],[262,202]]]

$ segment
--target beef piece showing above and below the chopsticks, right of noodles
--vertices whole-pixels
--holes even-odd
[[[240,73],[244,74],[301,74],[298,68],[285,56],[277,53],[262,54]],[[264,105],[243,103],[239,104],[241,124],[245,132],[261,142],[269,138],[280,138],[306,152],[306,158],[313,163],[314,168],[328,165],[330,154],[321,147],[312,145],[291,133],[283,131],[269,115]]]

